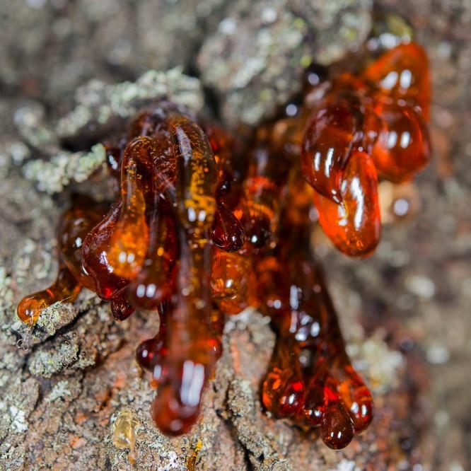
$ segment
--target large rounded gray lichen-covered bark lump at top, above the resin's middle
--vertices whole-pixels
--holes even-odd
[[[198,66],[218,93],[229,124],[255,124],[301,88],[303,70],[359,47],[371,26],[371,0],[236,2],[203,43]]]

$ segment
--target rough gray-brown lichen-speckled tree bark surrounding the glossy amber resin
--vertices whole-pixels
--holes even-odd
[[[333,452],[315,431],[261,412],[274,335],[257,313],[228,322],[202,419],[190,435],[169,440],[153,426],[154,393],[134,361],[156,317],[117,323],[82,293],[28,332],[14,308],[54,278],[54,227],[69,194],[107,192],[99,174],[83,181],[100,167],[100,149],[59,138],[92,135],[161,95],[195,111],[204,103],[229,124],[257,122],[296,92],[306,58],[330,64],[365,39],[371,3],[0,3],[0,469],[469,469],[471,7],[424,0],[399,8],[431,58],[435,158],[403,190],[413,214],[385,226],[370,259],[347,260],[316,236],[349,352],[376,399],[368,431]],[[164,73],[173,66],[204,88],[181,71]],[[148,69],[163,72],[134,83]],[[95,82],[74,104],[88,79],[132,83]],[[390,191],[381,187],[386,200]],[[134,464],[112,441],[123,411],[136,420]]]

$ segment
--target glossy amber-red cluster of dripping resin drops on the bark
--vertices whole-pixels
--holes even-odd
[[[170,103],[136,117],[125,139],[107,144],[116,201],[74,199],[59,225],[57,280],[18,306],[33,325],[85,287],[117,320],[158,313],[157,335],[136,356],[157,388],[151,413],[165,434],[197,421],[224,316],[248,306],[277,333],[265,409],[319,426],[330,448],[371,422],[371,392],[345,352],[310,234],[320,223],[354,257],[376,248],[378,175],[408,180],[429,160],[428,63],[410,43],[360,74],[316,77],[294,112],[248,146]]]

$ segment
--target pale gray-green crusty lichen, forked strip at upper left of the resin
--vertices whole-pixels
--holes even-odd
[[[29,146],[52,155],[47,160],[28,161],[23,166],[25,178],[35,182],[38,190],[50,194],[62,192],[71,182],[85,182],[105,163],[104,146],[95,144],[88,152],[70,152],[61,149],[60,139],[85,127],[104,127],[117,117],[132,117],[146,105],[163,99],[199,112],[203,107],[201,84],[198,79],[182,74],[180,67],[150,70],[135,82],[110,84],[93,80],[79,88],[76,107],[57,124],[47,123],[45,111],[38,104],[21,107],[15,115],[21,136]],[[18,154],[18,149],[10,148],[13,151]]]

